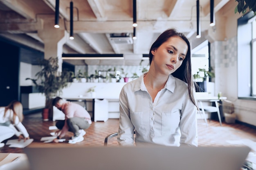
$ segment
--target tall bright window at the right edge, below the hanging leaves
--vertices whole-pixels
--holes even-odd
[[[238,99],[256,100],[256,21],[253,12],[238,19]]]

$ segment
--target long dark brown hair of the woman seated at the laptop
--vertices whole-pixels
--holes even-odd
[[[198,104],[194,98],[193,91],[195,89],[194,83],[193,83],[193,76],[191,71],[191,45],[189,42],[189,39],[186,37],[184,33],[177,32],[176,29],[167,29],[164,31],[157,40],[152,44],[150,51],[149,51],[149,64],[151,64],[153,59],[153,54],[151,51],[154,49],[157,49],[159,46],[161,46],[164,42],[166,42],[169,38],[178,36],[182,38],[188,45],[188,52],[186,53],[186,57],[182,62],[182,65],[174,72],[172,73],[173,77],[177,77],[178,79],[181,79],[183,82],[188,84],[188,90],[189,90],[189,98],[197,106]]]

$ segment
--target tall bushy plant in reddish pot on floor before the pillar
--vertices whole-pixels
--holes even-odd
[[[69,85],[73,74],[65,69],[60,73],[57,57],[40,60],[39,66],[42,69],[36,73],[37,78],[26,80],[32,80],[38,91],[45,94],[45,110],[49,110],[52,115],[52,98],[61,95],[62,89]]]

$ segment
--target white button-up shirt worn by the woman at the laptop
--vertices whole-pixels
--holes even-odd
[[[119,96],[119,145],[141,143],[164,146],[198,146],[197,108],[189,99],[187,84],[169,75],[154,102],[144,75],[127,83]]]

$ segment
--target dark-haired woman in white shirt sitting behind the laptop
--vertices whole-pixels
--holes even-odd
[[[150,48],[149,62],[148,73],[121,90],[119,145],[198,146],[189,40],[175,29],[164,31]]]

